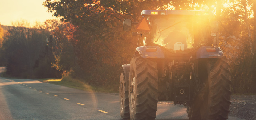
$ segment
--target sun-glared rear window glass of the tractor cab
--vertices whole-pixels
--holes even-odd
[[[207,43],[206,20],[192,17],[161,17],[153,21],[153,43],[170,51],[189,52]]]

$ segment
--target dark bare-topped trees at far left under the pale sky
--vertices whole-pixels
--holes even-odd
[[[40,72],[41,63],[47,59],[45,45],[49,32],[26,27],[27,25],[29,23],[25,21],[15,23],[4,37],[0,51],[1,57],[5,58],[1,62],[6,65],[7,74],[22,78],[35,78],[37,75],[58,76],[57,71],[51,68],[51,64],[44,64],[45,71]],[[53,75],[54,73],[56,74]]]

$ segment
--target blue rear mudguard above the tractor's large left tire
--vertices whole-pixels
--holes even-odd
[[[147,48],[156,48],[156,51],[148,52],[146,51]],[[142,58],[158,58],[158,59],[164,59],[164,51],[158,47],[158,46],[141,46],[137,47],[136,51],[139,52],[139,55]]]

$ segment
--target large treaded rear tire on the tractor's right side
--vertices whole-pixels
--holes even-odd
[[[226,120],[228,119],[231,78],[230,65],[226,56],[223,58],[209,59],[205,62],[207,79],[204,80],[205,90],[201,105],[202,120]]]

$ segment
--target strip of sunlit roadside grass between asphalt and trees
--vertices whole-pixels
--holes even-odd
[[[84,91],[94,92],[106,92],[106,93],[117,93],[113,87],[96,87],[89,85],[79,79],[74,79],[70,76],[64,76],[62,79],[48,78],[48,79],[36,79],[44,83],[51,83],[55,85],[66,86],[70,88],[76,88]]]

